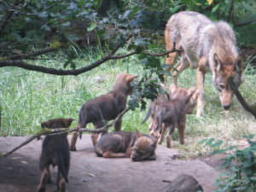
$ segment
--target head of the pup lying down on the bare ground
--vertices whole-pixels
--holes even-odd
[[[155,160],[155,148],[157,140],[153,137],[143,136],[137,131],[137,140],[134,146],[131,148],[131,160]]]

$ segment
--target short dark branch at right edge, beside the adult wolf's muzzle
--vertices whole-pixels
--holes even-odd
[[[252,113],[254,118],[256,119],[256,108],[252,108],[250,107],[247,102],[245,101],[245,99],[241,96],[240,91],[237,89],[236,84],[234,84],[233,81],[233,77],[230,77],[228,79],[228,82],[230,84],[231,90],[234,91],[236,98],[238,99],[238,101],[241,103],[241,106],[247,110],[247,112]]]

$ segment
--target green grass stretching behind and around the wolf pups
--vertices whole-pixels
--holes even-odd
[[[101,58],[104,53],[97,49],[84,50],[75,61],[79,66]],[[53,59],[35,61],[46,67],[61,67],[65,61],[64,55],[55,55]],[[164,62],[164,61],[162,61]],[[249,62],[249,61],[247,61]],[[79,109],[84,102],[107,93],[113,86],[118,73],[140,75],[143,67],[135,56],[118,61],[108,61],[101,67],[79,76],[54,76],[44,73],[26,71],[15,67],[0,68],[0,104],[2,122],[0,136],[31,135],[40,129],[40,122],[57,117],[72,117],[75,127]],[[172,78],[169,78],[171,83]],[[247,102],[255,102],[256,70],[247,65],[243,73],[243,83],[240,90]],[[186,69],[179,77],[178,84],[189,88],[195,85],[195,70]],[[173,136],[173,148],[183,151],[185,156],[204,154],[208,151],[199,145],[204,138],[223,139],[226,143],[240,143],[243,135],[256,132],[256,121],[253,116],[241,108],[234,99],[228,113],[224,113],[218,101],[218,91],[213,87],[212,75],[206,76],[205,82],[205,113],[201,118],[195,117],[195,112],[187,116],[185,144],[178,143],[177,131]],[[148,101],[149,103],[149,101]],[[130,111],[123,118],[122,129],[136,129],[148,133],[148,123],[141,124],[146,111]],[[91,127],[91,125],[90,125]]]

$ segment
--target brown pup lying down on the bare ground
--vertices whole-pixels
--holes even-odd
[[[105,158],[131,157],[133,161],[155,160],[156,144],[154,137],[143,135],[139,131],[113,131],[99,135],[95,152],[97,156]]]

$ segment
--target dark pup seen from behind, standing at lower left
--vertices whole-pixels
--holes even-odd
[[[49,119],[41,124],[41,127],[47,128],[65,128],[71,125],[73,119]],[[42,153],[40,157],[41,178],[38,185],[38,192],[45,191],[46,183],[51,183],[49,166],[58,166],[57,173],[57,190],[66,191],[68,183],[67,175],[69,170],[69,148],[67,142],[67,133],[60,135],[46,136],[44,138]]]

